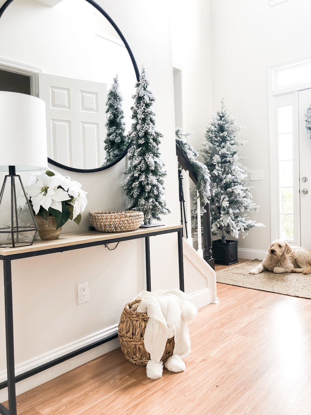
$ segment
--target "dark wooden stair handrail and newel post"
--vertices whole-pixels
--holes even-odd
[[[187,159],[185,154],[180,149],[180,146],[176,143],[176,154],[178,163],[182,168],[189,172],[189,177],[197,184],[197,173],[195,172],[192,164]],[[211,239],[211,212],[209,210],[209,203],[205,206],[206,212],[203,214],[203,258],[211,266],[212,269],[215,269],[215,261],[212,257],[212,239]]]

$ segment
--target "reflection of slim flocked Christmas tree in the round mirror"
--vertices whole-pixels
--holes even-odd
[[[116,160],[124,152],[129,144],[129,139],[125,135],[122,100],[123,97],[120,92],[117,75],[113,80],[112,87],[107,93],[107,135],[104,144],[105,161],[102,164],[103,166]]]

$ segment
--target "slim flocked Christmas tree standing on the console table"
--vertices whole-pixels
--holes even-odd
[[[134,120],[129,139],[133,140],[128,152],[129,167],[124,171],[127,177],[121,183],[127,196],[126,207],[144,214],[144,222],[160,220],[161,215],[170,213],[164,200],[164,163],[160,158],[160,139],[163,137],[155,128],[155,102],[145,68],[142,68],[131,107]]]

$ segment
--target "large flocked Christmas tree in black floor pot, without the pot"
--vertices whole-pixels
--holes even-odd
[[[221,236],[223,243],[228,234],[245,237],[253,227],[264,226],[243,214],[258,212],[259,206],[253,203],[251,188],[245,181],[248,170],[240,163],[243,157],[238,156],[239,147],[245,144],[237,140],[243,127],[231,114],[222,100],[221,110],[211,116],[200,151],[211,174],[211,230],[213,235]]]

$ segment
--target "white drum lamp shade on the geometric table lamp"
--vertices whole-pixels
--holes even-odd
[[[0,91],[0,171],[42,170],[48,165],[45,103]]]

